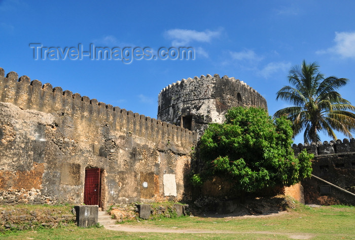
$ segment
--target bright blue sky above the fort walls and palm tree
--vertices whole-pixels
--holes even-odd
[[[316,61],[355,104],[355,1],[22,1],[0,0],[0,67],[81,96],[156,117],[162,88],[206,74],[246,82],[269,114],[291,67]],[[30,43],[65,50],[193,47],[195,59],[33,59]],[[179,45],[179,46],[177,46]],[[338,138],[344,136],[338,134]],[[321,136],[322,141],[331,140]],[[295,142],[303,142],[297,136]]]

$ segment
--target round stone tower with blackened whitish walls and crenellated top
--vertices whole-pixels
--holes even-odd
[[[203,134],[209,123],[223,123],[231,107],[261,107],[266,100],[243,81],[218,74],[177,81],[158,96],[158,119]]]

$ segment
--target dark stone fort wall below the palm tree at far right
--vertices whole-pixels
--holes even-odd
[[[355,139],[344,138],[336,141],[293,144],[295,155],[303,149],[314,154],[312,174],[349,192],[355,193]],[[302,181],[304,200],[307,204],[351,204],[355,197],[351,194],[320,181],[315,177]]]

